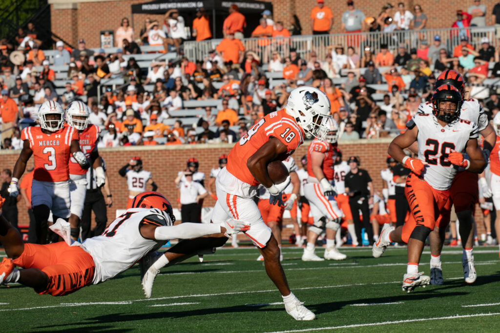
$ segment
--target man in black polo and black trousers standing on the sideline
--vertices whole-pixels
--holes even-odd
[[[349,196],[349,207],[352,212],[352,220],[354,220],[354,229],[356,231],[359,245],[362,244],[361,237],[361,221],[359,213],[363,216],[363,227],[368,234],[368,242],[373,244],[373,228],[370,224],[370,209],[373,204],[373,183],[368,171],[359,169],[359,160],[355,156],[349,157],[347,160],[350,171],[345,175],[345,192]]]

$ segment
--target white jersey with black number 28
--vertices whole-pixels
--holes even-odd
[[[452,151],[465,152],[470,139],[477,139],[477,124],[458,119],[441,126],[432,114],[417,113],[408,121],[406,127],[418,128],[418,159],[425,161],[423,179],[436,190],[447,190],[451,186],[457,168],[448,161]]]

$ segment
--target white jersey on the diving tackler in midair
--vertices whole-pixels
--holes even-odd
[[[139,224],[143,220],[160,226],[167,225],[158,210],[131,208],[116,218],[102,235],[87,238],[81,244],[95,264],[94,285],[117,276],[149,251],[166,243],[143,238],[139,232]]]

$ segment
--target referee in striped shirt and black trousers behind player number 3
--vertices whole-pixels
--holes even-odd
[[[100,163],[102,169],[104,169],[105,183],[101,188],[97,187],[95,183],[95,169],[88,169],[87,176],[87,191],[85,194],[85,202],[83,204],[83,213],[81,215],[80,227],[81,227],[81,241],[93,236],[99,236],[102,234],[104,229],[106,229],[107,224],[107,210],[106,206],[111,207],[113,204],[113,199],[111,199],[111,190],[109,188],[109,178],[107,178],[106,164],[104,159],[100,158]],[[106,198],[104,199],[104,195]],[[95,214],[95,228],[90,230],[91,221],[90,217],[92,215],[91,211]]]

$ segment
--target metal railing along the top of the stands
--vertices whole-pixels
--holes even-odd
[[[426,40],[429,45],[432,45],[435,35],[439,35],[442,47],[446,48],[449,53],[460,43],[461,36],[467,36],[468,43],[472,46],[480,45],[482,37],[487,37],[493,46],[498,43],[495,38],[494,26],[299,35],[266,39],[244,38],[242,43],[245,50],[256,52],[261,57],[261,62],[265,63],[271,51],[277,50],[281,56],[287,56],[290,48],[295,48],[301,58],[308,59],[309,51],[314,50],[318,59],[324,59],[329,45],[342,45],[344,52],[348,46],[352,46],[360,56],[364,54],[366,46],[369,46],[371,52],[376,54],[380,50],[381,44],[388,45],[391,51],[397,49],[399,44],[404,44],[409,52],[410,48],[417,48],[421,40]],[[208,55],[208,50],[214,49],[220,43],[220,40],[186,41],[184,42],[184,54],[191,61],[201,60]]]

